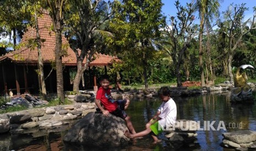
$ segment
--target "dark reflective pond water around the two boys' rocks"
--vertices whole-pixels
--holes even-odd
[[[255,103],[231,104],[228,94],[173,97],[173,100],[177,105],[177,119],[200,122],[200,130],[197,131],[194,143],[173,144],[161,134],[159,138],[162,142],[152,144],[152,138],[148,135],[131,142],[128,147],[104,150],[230,150],[221,146],[222,133],[241,129],[256,131]],[[127,113],[137,132],[145,129],[145,124],[156,113],[160,104],[159,98],[131,100]],[[30,133],[0,135],[0,150],[102,150],[63,143],[62,138],[75,122],[46,130],[37,128]]]

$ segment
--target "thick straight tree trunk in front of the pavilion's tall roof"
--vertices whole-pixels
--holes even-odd
[[[57,30],[55,34],[56,34],[55,61],[56,61],[56,76],[57,76],[57,95],[58,95],[58,98],[61,99],[61,103],[64,104],[65,98],[64,98],[64,90],[63,90],[63,70],[62,70],[62,35],[60,30]]]

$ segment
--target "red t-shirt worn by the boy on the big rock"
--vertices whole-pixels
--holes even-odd
[[[111,97],[110,89],[104,89],[102,86],[97,91],[96,99],[100,100],[101,104],[108,112],[113,112],[118,107],[117,102]]]

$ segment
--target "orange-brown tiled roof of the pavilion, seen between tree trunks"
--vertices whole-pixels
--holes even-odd
[[[42,43],[41,52],[43,63],[51,63],[55,60],[55,32],[51,31],[52,20],[48,14],[43,14],[41,18],[38,19],[39,33],[41,39],[45,42]],[[28,28],[25,32],[21,43],[24,47],[18,50],[11,51],[10,53],[0,56],[0,61],[11,60],[16,63],[26,63],[26,65],[37,65],[37,48],[29,48],[28,41],[30,39],[36,38],[35,28]],[[62,45],[68,44],[67,39],[62,36]],[[62,57],[62,63],[65,66],[77,66],[77,58],[75,57],[74,51],[67,47],[67,56]],[[117,57],[112,57],[109,55],[95,54],[95,60],[90,62],[89,66],[107,66],[112,64],[113,60],[118,60]],[[84,60],[85,63],[86,60]]]

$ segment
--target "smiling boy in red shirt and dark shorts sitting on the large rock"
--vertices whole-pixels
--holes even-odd
[[[110,80],[105,75],[100,80],[100,88],[97,91],[95,104],[101,110],[101,112],[107,117],[110,113],[120,117],[126,121],[126,125],[130,133],[136,133],[130,117],[124,112],[124,109],[127,109],[129,105],[129,100],[118,100],[115,101],[111,97],[111,92],[108,86],[110,85]],[[101,106],[104,106],[104,108]]]

